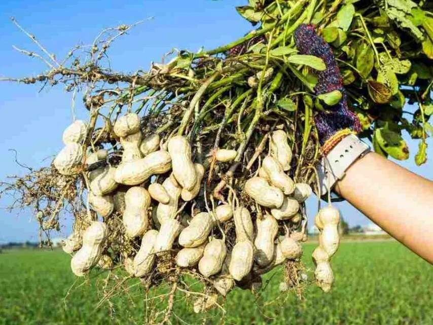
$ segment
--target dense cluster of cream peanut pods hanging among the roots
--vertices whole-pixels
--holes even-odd
[[[107,151],[103,149],[83,157],[81,143],[86,129],[85,122],[76,121],[64,131],[65,148],[54,160],[60,173],[76,173],[83,161],[92,165],[107,160]],[[244,192],[264,212],[258,213],[255,226],[248,208],[234,204],[234,200],[219,202],[212,210],[184,220],[185,213],[179,213],[182,210],[179,207],[185,204],[182,201],[192,201],[199,195],[205,174],[204,166],[192,161],[191,146],[185,136],[172,136],[166,143],[162,143],[158,134],[142,138],[140,119],[132,113],[121,116],[113,130],[123,148],[121,163],[85,172],[87,200],[102,220],[122,208],[125,236],[141,238],[135,256],[124,260],[131,276],[150,274],[158,256],[174,251],[178,267],[195,268],[226,296],[235,281],[241,281],[252,270],[268,271],[286,260],[301,258],[300,241],[306,240],[306,235],[286,232],[279,236],[279,222],[299,223],[301,203],[312,191],[309,185],[295,183],[286,173],[291,167],[292,151],[283,130],[271,133],[269,154],[257,175],[244,185]],[[217,161],[229,162],[237,152],[219,149],[214,155]],[[147,189],[143,184],[149,184]],[[117,191],[119,185],[128,186],[128,190]],[[227,245],[222,231],[222,225],[231,220],[236,233],[233,247]],[[96,265],[113,266],[110,257],[102,252],[109,231],[106,224],[90,221],[86,227],[84,231],[83,227],[74,228],[64,241],[63,249],[74,254],[71,269],[77,276],[86,275]],[[223,232],[222,239],[212,235],[217,227]],[[323,228],[323,233],[326,229]]]

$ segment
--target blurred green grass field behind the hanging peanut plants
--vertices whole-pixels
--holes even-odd
[[[314,245],[305,245],[305,263]],[[342,243],[333,260],[335,286],[330,294],[309,286],[304,299],[295,294],[264,307],[247,291],[235,290],[225,305],[228,324],[350,324],[432,325],[433,269],[396,242]],[[101,281],[106,273],[94,276]],[[264,300],[278,297],[281,272],[267,276]],[[69,271],[62,251],[11,250],[0,255],[0,324],[141,324],[142,289],[132,280],[129,296],[119,291],[108,303],[95,308],[101,293],[95,279],[83,281]],[[134,282],[135,281],[135,282]],[[84,283],[83,283],[84,282]],[[72,290],[70,286],[75,283]],[[266,283],[266,281],[265,281]],[[200,322],[185,306],[174,310],[188,323]],[[213,313],[207,323],[220,323]],[[173,323],[181,323],[173,317]]]

